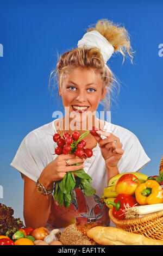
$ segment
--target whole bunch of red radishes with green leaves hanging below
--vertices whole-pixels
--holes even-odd
[[[59,133],[55,133],[53,136],[54,142],[57,143],[58,147],[55,148],[55,154],[71,154],[74,153],[78,157],[91,157],[93,152],[89,148],[85,148],[86,137],[90,132],[86,131],[79,136],[79,132],[74,131],[72,135],[70,133],[62,133],[62,137]],[[80,165],[76,163],[73,165]],[[54,186],[54,198],[59,203],[60,207],[64,204],[65,208],[68,208],[71,201],[74,198],[73,190],[80,188],[86,196],[92,196],[96,190],[91,187],[92,179],[85,173],[84,169],[79,169],[74,172],[67,172],[64,179],[56,181]]]

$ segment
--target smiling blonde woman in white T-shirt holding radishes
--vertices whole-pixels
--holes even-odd
[[[27,226],[36,228],[49,223],[53,227],[65,228],[75,222],[85,223],[87,218],[109,225],[108,208],[100,201],[108,181],[118,173],[139,172],[149,162],[132,132],[93,114],[99,103],[106,100],[106,94],[110,101],[114,76],[106,62],[116,51],[123,58],[126,54],[133,58],[128,32],[108,20],[99,20],[95,27],[87,29],[77,48],[60,57],[54,72],[58,75],[62,104],[68,111],[63,118],[30,132],[11,162],[24,179],[24,220]],[[75,122],[74,113],[77,114]],[[101,128],[98,136],[89,133],[85,137],[86,147],[93,151],[92,157],[83,159],[74,153],[53,154],[57,147],[52,139],[54,133],[64,131],[72,135],[75,129],[81,135],[90,129],[90,119],[92,126]],[[86,127],[82,129],[84,122]],[[72,166],[74,163],[82,165]],[[52,192],[55,182],[63,179],[66,172],[81,168],[91,176],[96,193],[85,196],[76,188],[70,207],[60,208]]]

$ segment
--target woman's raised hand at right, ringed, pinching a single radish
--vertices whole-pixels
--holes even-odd
[[[120,139],[107,131],[96,131],[99,136],[94,136],[97,140],[99,147],[101,148],[102,156],[106,163],[106,168],[117,168],[117,164],[120,161],[124,150],[122,149],[122,143]],[[106,138],[102,139],[103,135]]]

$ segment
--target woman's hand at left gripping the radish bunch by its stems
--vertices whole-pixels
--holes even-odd
[[[69,166],[66,166],[66,160],[69,162]],[[64,178],[66,172],[74,172],[84,168],[82,158],[72,154],[61,154],[58,155],[52,162],[50,162],[42,171],[39,181],[45,186],[47,190],[53,188],[55,181],[61,180]],[[72,166],[74,163],[82,163],[81,165]]]

